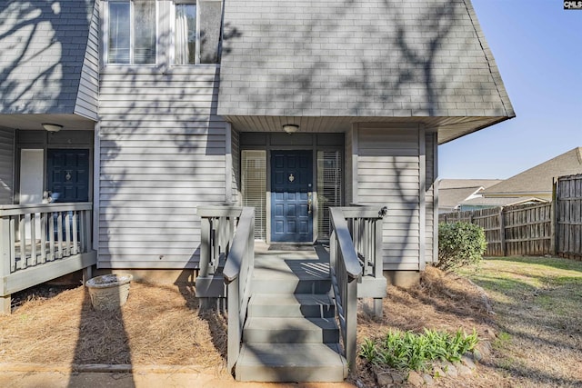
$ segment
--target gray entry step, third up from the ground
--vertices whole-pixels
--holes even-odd
[[[335,307],[326,294],[256,293],[248,303],[248,316],[333,318]]]

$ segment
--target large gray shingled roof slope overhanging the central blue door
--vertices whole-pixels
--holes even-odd
[[[217,114],[244,131],[438,128],[440,144],[515,116],[468,0],[229,0]]]

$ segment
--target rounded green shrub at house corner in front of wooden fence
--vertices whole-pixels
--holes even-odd
[[[437,267],[441,270],[476,264],[486,249],[487,240],[482,227],[469,223],[438,224]]]

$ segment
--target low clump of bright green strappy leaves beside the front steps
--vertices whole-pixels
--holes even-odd
[[[367,363],[400,370],[425,371],[436,361],[458,362],[463,354],[477,346],[477,332],[460,329],[450,334],[425,329],[425,333],[389,331],[384,338],[366,338],[359,355]]]

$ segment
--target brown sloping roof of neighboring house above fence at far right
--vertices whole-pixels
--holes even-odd
[[[551,195],[554,177],[581,173],[582,147],[577,147],[487,188],[482,192],[482,195]]]

